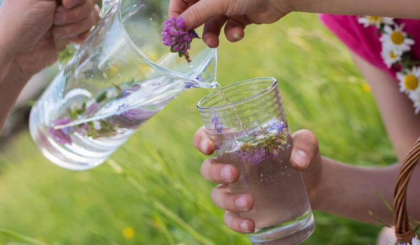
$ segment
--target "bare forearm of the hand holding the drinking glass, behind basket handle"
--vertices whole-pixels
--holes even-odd
[[[377,222],[369,215],[372,211],[386,224],[393,224],[392,212],[381,200],[393,204],[393,190],[400,164],[373,168],[343,164],[323,158],[320,194],[316,209],[322,212],[348,217],[363,222]],[[407,210],[413,218],[420,218],[420,196],[416,186],[420,185],[420,169],[416,169],[407,192]]]

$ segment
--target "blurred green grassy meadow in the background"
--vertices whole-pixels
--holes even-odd
[[[222,87],[276,78],[291,130],[316,133],[327,157],[395,162],[369,86],[316,15],[247,27],[238,43],[223,37],[217,75]],[[210,197],[216,184],[200,175],[205,156],[192,138],[201,126],[196,104],[209,92],[181,93],[88,171],[60,168],[28,131],[16,135],[0,152],[0,244],[250,244],[224,226]],[[381,229],[319,212],[315,220],[303,244],[374,244]]]

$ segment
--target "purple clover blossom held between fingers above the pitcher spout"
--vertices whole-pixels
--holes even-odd
[[[200,38],[197,33],[185,30],[185,20],[183,18],[172,17],[163,22],[162,39],[164,45],[171,47],[172,53],[178,53],[179,57],[184,56],[188,63],[191,63],[188,50],[194,38]]]

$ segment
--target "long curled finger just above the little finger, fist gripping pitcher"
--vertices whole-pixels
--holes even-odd
[[[74,38],[82,33],[87,32],[97,22],[99,7],[95,6],[93,13],[85,19],[73,24],[65,26],[53,26],[52,34],[58,38]]]

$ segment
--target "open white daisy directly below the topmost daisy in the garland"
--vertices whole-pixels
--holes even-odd
[[[382,47],[392,50],[395,55],[402,55],[406,51],[410,51],[410,46],[414,44],[414,40],[407,37],[407,33],[403,32],[404,24],[398,26],[395,24],[395,29],[385,26],[384,33],[379,39],[382,42]]]

